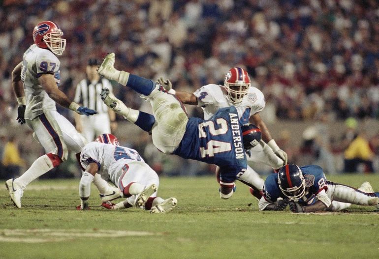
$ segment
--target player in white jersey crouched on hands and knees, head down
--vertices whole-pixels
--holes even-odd
[[[77,209],[89,209],[88,198],[95,173],[119,187],[125,201],[117,204],[103,202],[107,209],[124,209],[132,206],[150,210],[151,213],[165,213],[174,208],[177,200],[173,197],[163,200],[157,197],[158,174],[149,167],[137,151],[120,146],[112,134],[101,134],[87,144],[80,154],[80,162],[86,169],[80,179],[79,195],[81,205]]]

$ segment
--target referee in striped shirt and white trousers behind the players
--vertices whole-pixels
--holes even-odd
[[[116,115],[108,109],[101,100],[101,88],[107,87],[112,91],[112,84],[105,78],[100,78],[96,73],[100,62],[96,58],[90,58],[86,67],[87,78],[76,86],[74,101],[80,105],[97,111],[94,116],[81,116],[74,114],[76,130],[79,131],[88,142],[94,141],[103,133],[112,133],[117,128]]]

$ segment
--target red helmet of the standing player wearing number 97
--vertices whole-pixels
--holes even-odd
[[[66,48],[66,39],[62,39],[61,36],[63,31],[50,21],[40,22],[33,29],[35,45],[42,49],[49,48],[56,55],[62,55]]]

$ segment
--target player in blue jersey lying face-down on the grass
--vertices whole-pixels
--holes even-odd
[[[259,210],[284,210],[289,204],[292,212],[319,210],[337,211],[351,204],[377,205],[379,192],[369,182],[353,187],[326,180],[319,166],[285,165],[279,173],[270,174],[264,182],[264,195]]]

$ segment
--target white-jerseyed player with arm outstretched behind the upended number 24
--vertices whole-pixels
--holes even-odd
[[[163,85],[169,93],[175,94],[182,103],[201,107],[204,111],[204,119],[209,119],[223,107],[233,105],[245,108],[245,113],[240,118],[242,123],[246,124],[250,121],[262,133],[260,145],[250,150],[251,155],[248,160],[266,164],[273,169],[279,169],[287,163],[287,154],[275,143],[259,115],[266,104],[263,93],[258,88],[251,86],[248,72],[244,69],[233,67],[227,72],[223,86],[209,84],[202,86],[194,93],[175,91],[169,81],[165,81]],[[239,180],[252,188],[251,193],[258,200],[262,197],[264,180],[250,166]]]

